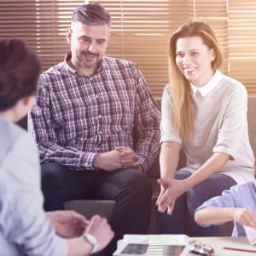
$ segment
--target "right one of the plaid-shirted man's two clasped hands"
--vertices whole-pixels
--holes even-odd
[[[119,151],[121,163],[123,164],[124,168],[141,169],[142,164],[139,162],[137,154],[133,149],[122,146],[116,147],[115,149]]]

